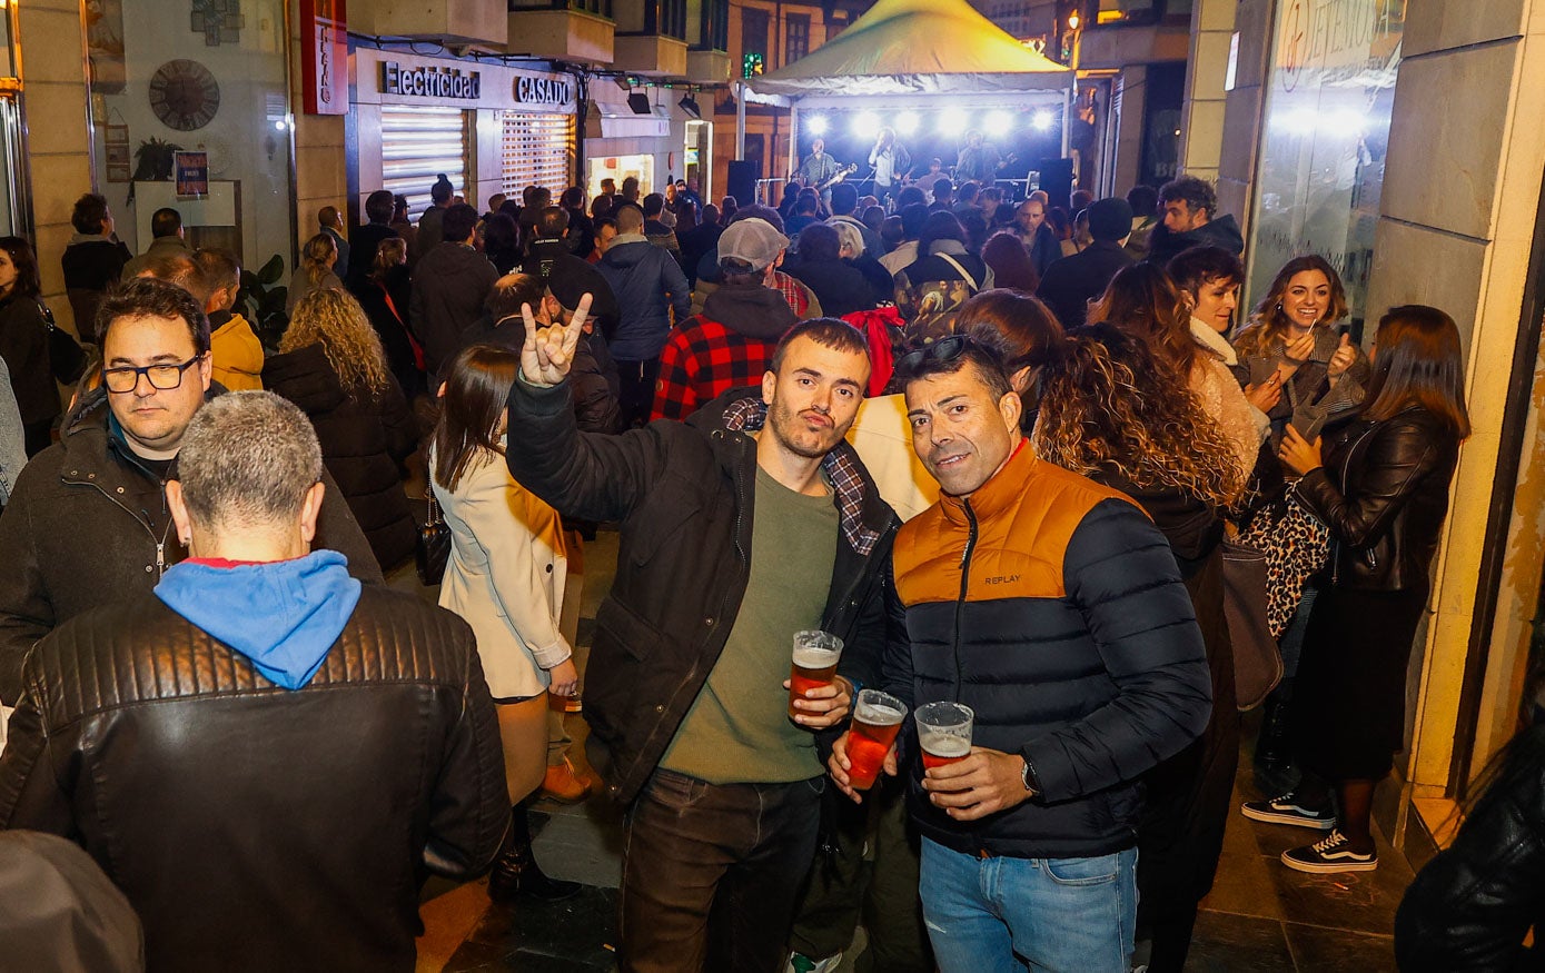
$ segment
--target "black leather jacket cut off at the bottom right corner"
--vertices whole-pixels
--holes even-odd
[[[1509,760],[1454,839],[1406,890],[1395,914],[1404,973],[1539,970],[1525,948],[1545,928],[1545,727],[1509,744]]]

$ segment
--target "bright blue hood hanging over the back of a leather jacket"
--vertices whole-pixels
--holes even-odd
[[[328,550],[230,568],[184,561],[167,568],[156,598],[247,656],[270,683],[301,689],[360,602],[348,565]]]

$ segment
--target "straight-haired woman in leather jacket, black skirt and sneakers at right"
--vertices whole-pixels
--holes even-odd
[[[1302,783],[1245,803],[1244,814],[1327,831],[1282,853],[1289,868],[1309,873],[1378,866],[1369,831],[1374,785],[1403,746],[1406,666],[1458,446],[1469,436],[1465,355],[1446,314],[1390,309],[1370,366],[1355,415],[1332,422],[1324,439],[1289,426],[1279,453],[1301,476],[1298,499],[1332,534],[1295,686],[1295,706],[1316,718],[1293,726]]]

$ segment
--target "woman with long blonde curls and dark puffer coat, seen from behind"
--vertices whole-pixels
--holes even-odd
[[[321,460],[371,542],[383,571],[413,554],[419,528],[402,490],[402,463],[419,434],[386,352],[358,301],[315,290],[295,306],[263,388],[289,398],[317,426]]]

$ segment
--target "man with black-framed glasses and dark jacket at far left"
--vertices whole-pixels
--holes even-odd
[[[0,516],[0,701],[20,697],[22,661],[60,622],[151,590],[187,556],[162,486],[182,432],[212,388],[209,318],[198,298],[133,280],[97,310],[102,385],[65,417],[60,442],[22,473]],[[318,547],[382,582],[365,534],[326,473]]]

